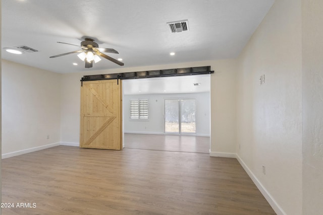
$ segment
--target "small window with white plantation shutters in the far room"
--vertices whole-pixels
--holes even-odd
[[[148,119],[148,99],[130,99],[130,119]]]

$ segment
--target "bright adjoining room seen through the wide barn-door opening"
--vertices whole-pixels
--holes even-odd
[[[209,153],[210,75],[123,81],[124,147]]]

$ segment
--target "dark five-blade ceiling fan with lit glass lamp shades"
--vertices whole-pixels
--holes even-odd
[[[64,43],[64,42],[58,42],[58,43],[63,43],[63,44],[68,44],[68,45],[74,45],[70,43]],[[115,53],[119,54],[118,51],[116,51],[113,48],[99,48],[98,44],[94,42],[94,39],[91,38],[85,38],[84,41],[81,42],[81,45],[74,45],[82,48],[81,50],[77,51],[72,51],[64,54],[58,54],[54,56],[50,56],[50,58],[54,57],[60,57],[64,56],[67,54],[73,54],[73,53],[79,53],[77,56],[85,61],[85,68],[91,68],[93,66],[93,61],[96,63],[101,60],[100,57],[103,57],[107,60],[110,60],[114,63],[117,63],[118,65],[124,65],[123,62],[120,62],[119,60],[116,60],[115,58],[112,58],[110,56],[107,56],[106,54],[103,54],[102,52],[107,52],[107,53]],[[99,57],[100,56],[100,57]]]

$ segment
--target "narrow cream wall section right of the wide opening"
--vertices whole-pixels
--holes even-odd
[[[214,61],[211,75],[210,156],[236,157],[236,59]]]

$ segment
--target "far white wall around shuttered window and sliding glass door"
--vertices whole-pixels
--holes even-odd
[[[126,83],[124,83],[126,84]],[[130,99],[148,99],[148,121],[135,121],[130,119]],[[164,100],[169,98],[196,99],[196,135],[210,135],[210,94],[149,94],[125,95],[123,97],[125,133],[165,133]]]

